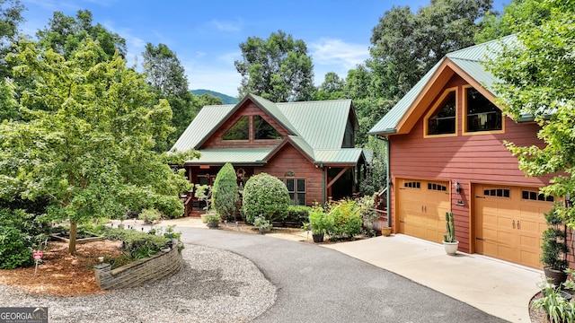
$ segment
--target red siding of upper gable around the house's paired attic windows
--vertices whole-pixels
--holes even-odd
[[[199,149],[222,149],[222,148],[270,148],[275,147],[281,140],[257,140],[254,141],[252,134],[250,135],[250,140],[222,140],[222,136],[226,134],[226,131],[234,126],[235,122],[242,118],[243,116],[261,116],[264,118],[271,127],[278,130],[282,137],[290,135],[286,129],[281,127],[276,120],[270,118],[262,109],[260,109],[255,103],[248,100],[245,104],[237,109],[226,122],[219,127],[216,132],[209,137],[209,139],[202,144]],[[253,123],[253,120],[250,121]],[[252,125],[253,126],[253,125]],[[251,126],[251,128],[252,128]]]

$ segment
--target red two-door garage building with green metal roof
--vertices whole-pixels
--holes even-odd
[[[501,113],[483,63],[515,36],[443,57],[371,130],[387,141],[395,232],[441,243],[453,212],[459,250],[541,268],[551,177],[527,178],[506,141],[543,146],[532,118]]]

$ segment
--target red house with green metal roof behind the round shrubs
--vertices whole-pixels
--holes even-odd
[[[365,174],[357,130],[351,100],[276,103],[248,94],[234,105],[203,107],[173,149],[201,154],[184,164],[191,183],[211,185],[230,162],[240,186],[266,172],[286,183],[293,205],[322,204],[357,191]]]

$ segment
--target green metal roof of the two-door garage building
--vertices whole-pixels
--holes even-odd
[[[397,125],[410,109],[411,104],[420,96],[421,91],[438,70],[439,65],[446,59],[449,59],[459,66],[465,73],[473,77],[474,80],[481,83],[488,91],[497,95],[492,88],[493,83],[497,80],[491,73],[485,71],[485,67],[482,63],[496,57],[503,46],[512,45],[516,39],[516,35],[510,35],[447,54],[446,57],[443,57],[438,64],[434,65],[433,68],[395,104],[394,108],[385,114],[384,118],[381,118],[379,122],[376,123],[376,126],[367,132],[367,135],[390,135],[397,132]]]

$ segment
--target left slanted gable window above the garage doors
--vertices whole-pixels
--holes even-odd
[[[456,135],[456,102],[456,89],[449,89],[439,97],[425,118],[426,135]]]

